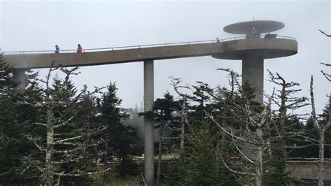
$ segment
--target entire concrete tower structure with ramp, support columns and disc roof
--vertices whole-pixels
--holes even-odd
[[[251,29],[258,31],[249,36]],[[119,48],[85,49],[86,52],[73,51],[33,51],[4,52],[19,88],[25,87],[24,71],[54,66],[94,66],[128,62],[144,63],[144,110],[152,111],[154,103],[154,61],[182,57],[212,56],[218,59],[242,60],[242,83],[250,83],[256,90],[256,101],[263,102],[263,62],[264,59],[286,57],[297,53],[297,41],[288,36],[265,34],[284,27],[281,22],[250,21],[230,24],[224,31],[242,34],[235,38],[139,45]],[[91,51],[91,52],[90,52]],[[211,69],[212,70],[212,69]],[[145,119],[145,180],[154,185],[154,121]]]

